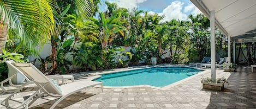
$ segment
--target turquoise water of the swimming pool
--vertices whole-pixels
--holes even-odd
[[[154,67],[104,74],[94,81],[103,82],[104,86],[151,85],[164,87],[199,72],[201,71],[194,68]]]

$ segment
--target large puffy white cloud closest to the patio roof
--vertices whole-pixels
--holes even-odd
[[[166,7],[162,13],[159,13],[159,15],[165,15],[163,21],[170,21],[173,18],[177,20],[186,20],[187,15],[182,12],[183,4],[183,2],[174,1],[168,7]]]

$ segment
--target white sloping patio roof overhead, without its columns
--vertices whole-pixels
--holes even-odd
[[[226,36],[256,42],[255,0],[190,0],[206,17],[215,11],[215,25]],[[241,41],[241,40],[240,40]]]

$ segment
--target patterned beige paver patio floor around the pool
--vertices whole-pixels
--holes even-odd
[[[200,78],[211,75],[207,70],[166,90],[136,87],[104,88],[104,92],[101,92],[100,88],[88,88],[70,95],[56,108],[256,108],[256,73],[244,66],[237,67],[234,73],[223,72],[222,69],[216,72],[217,78],[224,76],[230,82],[229,85],[225,84],[222,92],[202,89]],[[25,89],[19,93],[21,98],[17,99],[23,99],[32,91],[35,91],[32,87]],[[0,95],[0,101],[7,95]],[[39,99],[31,107],[49,108],[54,98],[47,99],[50,101]]]

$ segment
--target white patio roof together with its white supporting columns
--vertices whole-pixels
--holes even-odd
[[[228,37],[228,64],[231,64],[231,40],[233,62],[235,43],[256,42],[255,0],[190,0],[207,18],[211,28],[211,78],[216,79],[215,26]]]

